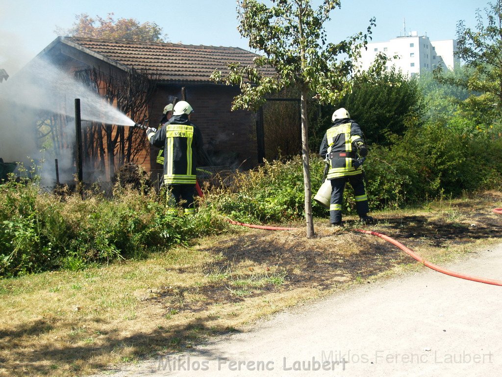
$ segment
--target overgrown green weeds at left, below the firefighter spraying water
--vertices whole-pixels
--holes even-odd
[[[36,183],[0,185],[0,276],[142,256],[222,228],[205,206],[194,216],[173,216],[165,198],[118,189],[113,199],[60,200],[39,193]]]

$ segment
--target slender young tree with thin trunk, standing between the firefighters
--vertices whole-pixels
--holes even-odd
[[[322,103],[336,103],[350,89],[348,77],[354,70],[352,58],[358,55],[374,26],[370,20],[365,34],[358,33],[339,43],[327,43],[324,23],[330,12],[340,8],[340,0],[323,0],[314,7],[311,0],[271,0],[273,6],[257,0],[237,0],[239,33],[249,47],[264,53],[253,66],[229,65],[224,78],[215,71],[213,79],[240,85],[232,109],[256,109],[268,93],[294,86],[301,93],[302,160],[305,190],[307,237],[314,236],[312,190],[308,145],[307,99],[315,93]],[[345,58],[340,57],[345,56]],[[270,74],[270,70],[275,74]],[[269,74],[267,74],[269,73]]]

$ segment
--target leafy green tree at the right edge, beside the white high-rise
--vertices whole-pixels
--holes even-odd
[[[476,19],[476,29],[466,27],[464,21],[457,24],[457,55],[464,62],[466,75],[445,76],[441,67],[434,74],[442,83],[466,88],[470,97],[464,107],[492,120],[502,111],[502,0],[488,3],[484,17],[478,9]]]

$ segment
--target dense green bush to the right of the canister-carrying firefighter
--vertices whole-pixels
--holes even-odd
[[[373,146],[365,171],[372,209],[399,208],[440,195],[502,187],[502,139],[449,125],[409,130],[391,147]]]

